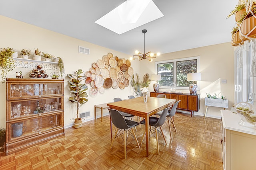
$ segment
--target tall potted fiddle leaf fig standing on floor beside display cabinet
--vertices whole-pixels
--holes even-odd
[[[69,83],[70,92],[72,93],[72,96],[69,97],[69,101],[71,103],[76,104],[76,118],[71,119],[74,120],[74,127],[80,128],[82,127],[82,119],[79,117],[79,109],[82,105],[86,104],[88,102],[88,97],[86,90],[88,90],[86,84],[82,83],[82,81],[86,78],[85,76],[82,76],[83,73],[82,69],[78,69],[76,71],[76,74],[68,74],[68,77],[71,78]]]

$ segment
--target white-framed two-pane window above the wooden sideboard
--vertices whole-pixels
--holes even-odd
[[[156,62],[156,74],[161,74],[161,80],[158,81],[161,88],[176,85],[177,89],[188,89],[189,84],[198,84],[187,81],[187,74],[192,72],[200,72],[199,56]]]

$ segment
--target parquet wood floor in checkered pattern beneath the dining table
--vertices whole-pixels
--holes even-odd
[[[136,118],[135,118],[136,119]],[[124,159],[124,141],[117,137],[110,149],[109,116],[88,121],[80,129],[65,129],[65,136],[5,156],[0,155],[1,170],[223,170],[221,121],[184,113],[176,113],[172,131],[163,126],[167,145],[159,137],[160,155],[156,139],[151,136],[149,156],[146,157],[145,140],[136,147],[132,136],[127,139],[127,159]],[[173,130],[173,129],[172,129]],[[135,131],[142,139],[144,126]],[[113,134],[114,135],[114,134]]]

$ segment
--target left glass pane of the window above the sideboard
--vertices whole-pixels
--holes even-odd
[[[170,86],[173,83],[173,62],[157,64],[157,74],[161,74],[160,86]]]

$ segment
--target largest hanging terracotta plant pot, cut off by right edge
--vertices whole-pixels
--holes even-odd
[[[256,29],[254,29],[255,26],[256,26],[256,18],[254,18],[254,16],[252,16],[250,18],[247,18],[246,20],[244,20],[241,23],[240,31],[241,31],[242,35],[246,35],[247,37],[250,37],[250,38],[256,38]]]

